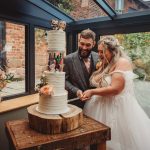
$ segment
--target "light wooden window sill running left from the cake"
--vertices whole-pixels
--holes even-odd
[[[0,114],[11,110],[19,109],[25,106],[36,104],[39,101],[39,94],[32,94],[8,101],[0,102]]]

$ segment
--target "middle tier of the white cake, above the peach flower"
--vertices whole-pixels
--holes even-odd
[[[44,71],[48,85],[53,86],[54,95],[63,94],[65,89],[65,72]]]

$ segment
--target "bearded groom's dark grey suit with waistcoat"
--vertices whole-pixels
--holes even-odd
[[[91,52],[90,71],[88,72],[83,59],[79,56],[78,51],[67,55],[64,58],[65,88],[68,91],[68,99],[77,97],[78,90],[85,91],[90,88],[89,78],[93,71],[96,70],[98,54]],[[73,104],[83,108],[84,102],[75,101]]]

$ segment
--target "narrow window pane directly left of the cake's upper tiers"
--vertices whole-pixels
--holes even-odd
[[[46,30],[35,28],[35,86],[40,82],[42,73],[48,69],[47,49]]]

